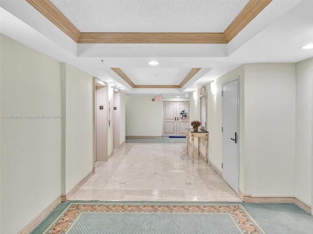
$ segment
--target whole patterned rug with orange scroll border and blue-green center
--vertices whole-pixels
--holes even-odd
[[[70,203],[45,234],[265,234],[241,204]]]

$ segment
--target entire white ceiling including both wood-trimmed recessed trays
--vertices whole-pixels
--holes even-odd
[[[50,2],[68,14],[69,21]],[[246,2],[0,0],[0,30],[52,59],[66,62],[117,89],[123,88],[126,95],[185,97],[185,93],[245,63],[294,63],[313,56],[313,50],[301,49],[313,43],[313,0],[250,0],[241,11]],[[99,7],[100,4],[107,5]],[[213,10],[213,6],[218,7]],[[196,13],[193,7],[197,7]],[[78,29],[72,30],[72,24]],[[82,28],[84,25],[87,29]],[[179,39],[170,35],[170,42],[140,40],[146,32],[192,32],[190,28],[208,34],[223,32],[219,34],[228,42],[199,42],[198,34],[192,33]],[[85,31],[97,30],[107,33],[90,33],[89,42],[81,41]],[[116,40],[118,37],[110,30],[121,32],[118,36],[124,37],[124,42]],[[130,34],[123,32],[134,31],[139,36],[129,42]],[[104,41],[97,35],[108,35],[111,40]],[[184,42],[186,35],[193,37],[193,42]],[[150,66],[151,60],[159,64]]]

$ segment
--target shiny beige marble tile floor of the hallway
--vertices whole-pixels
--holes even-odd
[[[190,151],[189,151],[190,152]],[[241,201],[185,143],[126,143],[70,200]]]

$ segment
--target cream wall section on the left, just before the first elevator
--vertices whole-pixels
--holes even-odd
[[[66,93],[62,96],[66,98],[65,192],[68,193],[93,170],[93,78],[68,64],[62,66],[65,66],[62,79],[66,82]]]

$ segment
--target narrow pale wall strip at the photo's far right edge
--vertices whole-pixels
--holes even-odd
[[[295,196],[312,204],[313,58],[296,63]]]

